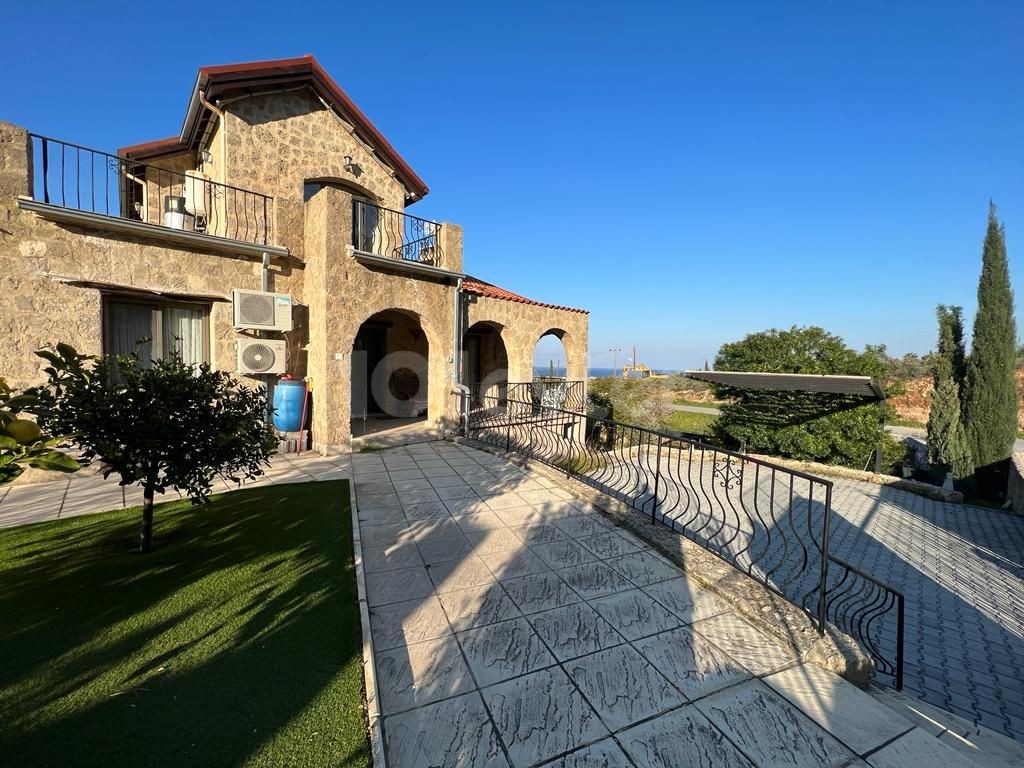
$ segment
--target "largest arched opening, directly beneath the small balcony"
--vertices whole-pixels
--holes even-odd
[[[352,342],[352,436],[425,422],[430,342],[420,317],[385,309],[369,317]]]

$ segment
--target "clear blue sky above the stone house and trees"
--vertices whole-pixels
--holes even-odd
[[[1016,0],[89,6],[6,10],[0,119],[111,150],[176,133],[201,65],[313,53],[468,271],[591,310],[595,367],[809,324],[925,352],[989,198],[1024,297]]]

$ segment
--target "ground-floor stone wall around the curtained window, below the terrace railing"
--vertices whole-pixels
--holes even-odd
[[[0,375],[14,387],[39,383],[42,360],[34,351],[65,341],[82,352],[102,349],[101,293],[76,288],[46,273],[76,281],[160,291],[184,297],[214,296],[211,359],[236,369],[231,327],[232,288],[260,288],[258,259],[186,249],[101,229],[58,224],[24,211],[18,196],[31,196],[31,152],[23,128],[0,123]],[[296,293],[299,264],[275,264],[276,289]]]

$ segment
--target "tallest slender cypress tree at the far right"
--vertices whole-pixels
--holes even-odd
[[[1017,437],[1017,325],[1002,225],[989,204],[978,314],[964,392],[964,427],[976,467],[1007,459]]]

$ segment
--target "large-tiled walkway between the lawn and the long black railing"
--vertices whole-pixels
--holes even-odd
[[[352,469],[392,768],[968,765],[541,475],[444,442]]]

